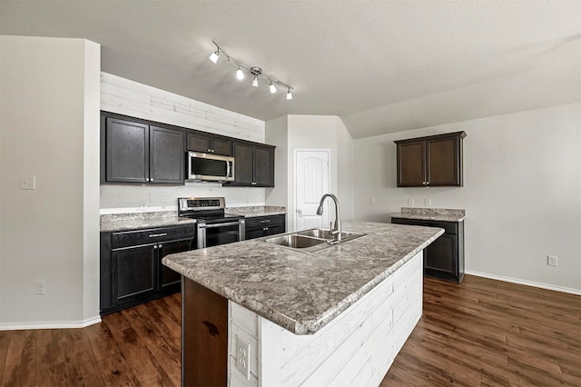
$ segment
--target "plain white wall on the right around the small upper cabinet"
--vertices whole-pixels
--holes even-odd
[[[389,222],[412,198],[466,209],[468,272],[581,293],[580,128],[581,104],[563,104],[355,140],[356,217]],[[464,187],[396,187],[394,140],[457,131]]]

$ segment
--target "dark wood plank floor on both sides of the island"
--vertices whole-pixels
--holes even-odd
[[[84,329],[0,332],[2,386],[180,385],[176,294]],[[381,386],[581,386],[581,297],[467,275],[424,313]]]

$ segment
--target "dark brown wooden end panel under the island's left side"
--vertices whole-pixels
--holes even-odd
[[[226,386],[228,300],[183,277],[182,385]]]

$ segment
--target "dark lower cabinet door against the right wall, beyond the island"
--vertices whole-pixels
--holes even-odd
[[[458,235],[444,233],[432,242],[424,253],[426,272],[444,274],[450,278],[458,276]]]

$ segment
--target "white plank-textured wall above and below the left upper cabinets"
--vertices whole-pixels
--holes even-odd
[[[213,134],[264,143],[264,122],[211,104],[101,73],[101,109],[154,122],[173,124]],[[278,150],[277,150],[278,151]],[[131,213],[177,209],[177,198],[223,196],[226,205],[263,205],[264,188],[222,187],[215,183],[184,186],[101,185],[101,213]],[[146,203],[142,210],[140,203]]]

